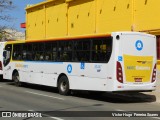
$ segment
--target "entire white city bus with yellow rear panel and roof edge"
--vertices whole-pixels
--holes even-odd
[[[9,41],[4,78],[71,90],[123,92],[156,88],[156,37],[140,32]]]

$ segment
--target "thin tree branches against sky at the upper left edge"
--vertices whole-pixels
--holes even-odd
[[[2,21],[10,21],[12,18],[7,14],[8,11],[14,8],[12,4],[12,0],[0,0],[0,23]],[[5,37],[8,33],[6,33],[5,29],[8,26],[0,24],[0,39]]]

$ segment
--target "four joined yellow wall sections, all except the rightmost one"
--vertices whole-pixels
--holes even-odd
[[[132,29],[131,0],[48,0],[28,7],[26,39]]]

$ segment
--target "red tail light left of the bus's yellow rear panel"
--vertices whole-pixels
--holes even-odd
[[[121,66],[121,63],[120,63],[120,62],[117,62],[116,71],[117,71],[117,80],[118,80],[120,83],[123,83],[123,71],[122,71],[122,66]]]

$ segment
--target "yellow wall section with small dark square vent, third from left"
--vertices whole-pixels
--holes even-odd
[[[68,3],[68,35],[95,34],[95,0],[75,0]]]

